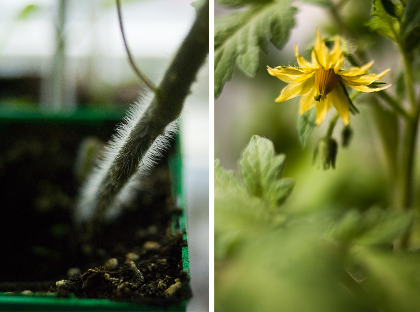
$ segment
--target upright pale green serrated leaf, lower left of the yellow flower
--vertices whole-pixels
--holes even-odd
[[[254,135],[242,154],[240,176],[251,196],[263,198],[271,207],[282,204],[293,188],[292,180],[283,180],[286,155],[276,155],[273,143]]]

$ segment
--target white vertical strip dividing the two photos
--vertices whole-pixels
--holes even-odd
[[[209,310],[214,311],[214,0],[210,0],[209,32]]]

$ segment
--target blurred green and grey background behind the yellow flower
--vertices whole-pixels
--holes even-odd
[[[285,48],[279,51],[269,43],[269,53],[262,53],[257,76],[249,78],[236,68],[232,80],[225,84],[221,95],[215,100],[215,158],[219,158],[226,169],[237,171],[238,159],[251,136],[264,136],[273,141],[277,153],[287,156],[283,176],[296,181],[285,209],[293,207],[294,211],[308,211],[327,207],[357,207],[363,210],[374,204],[384,207],[389,204],[387,173],[383,147],[377,139],[376,126],[372,123],[375,114],[374,105],[369,103],[372,95],[361,94],[356,98],[355,104],[360,114],[350,116],[353,129],[350,146],[339,147],[336,168],[328,171],[314,166],[312,157],[316,142],[326,133],[328,119],[334,114],[334,108],[302,149],[296,129],[300,97],[274,102],[286,83],[269,75],[266,67],[296,66],[295,44],[298,44],[300,55],[311,61],[309,51],[315,42],[316,29],[321,30],[323,38],[338,32],[326,9],[301,2],[294,3],[294,6],[298,8],[296,26]],[[375,60],[372,71],[379,73],[391,68],[383,81],[398,77],[401,65],[395,47],[369,31],[365,25],[370,18],[371,2],[351,1],[343,12],[346,12],[352,30],[358,33],[357,38],[369,49],[367,61]],[[229,13],[230,10],[216,5],[215,18]],[[347,39],[345,36],[343,38]],[[351,40],[348,45],[344,48],[352,48]],[[388,91],[395,93],[395,87]],[[339,144],[342,128],[340,120],[333,134]]]

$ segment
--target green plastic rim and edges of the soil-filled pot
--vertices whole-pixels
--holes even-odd
[[[0,131],[10,125],[54,125],[60,127],[92,127],[101,129],[105,124],[116,125],[124,117],[122,110],[77,109],[71,112],[54,114],[40,109],[14,109],[0,106]],[[67,128],[68,129],[68,128]],[[182,156],[180,138],[176,138],[176,152],[169,159],[171,187],[176,204],[182,214],[174,217],[173,233],[186,233],[186,210],[182,182]],[[187,239],[184,234],[184,239]],[[182,266],[189,275],[188,247],[182,247]],[[146,304],[117,302],[108,299],[57,298],[55,293],[32,293],[30,295],[0,293],[1,311],[185,311],[187,300],[179,305],[162,307]]]

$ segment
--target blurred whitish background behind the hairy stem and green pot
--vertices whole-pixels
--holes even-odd
[[[122,15],[137,66],[158,84],[195,17],[190,0],[126,0]],[[63,9],[64,8],[64,9]],[[143,90],[130,68],[113,0],[0,0],[1,105],[128,107]],[[209,309],[209,66],[182,117],[193,298]]]

